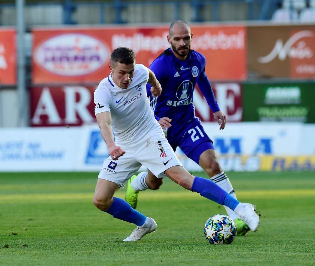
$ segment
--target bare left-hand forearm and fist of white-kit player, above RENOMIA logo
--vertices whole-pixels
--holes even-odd
[[[123,156],[125,151],[115,144],[114,134],[112,132],[112,115],[110,112],[102,112],[96,114],[96,120],[100,127],[100,133],[106,142],[109,155],[114,161],[118,160],[118,157]]]

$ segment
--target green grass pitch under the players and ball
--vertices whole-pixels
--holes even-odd
[[[135,225],[92,203],[97,173],[0,173],[0,265],[314,265],[315,173],[228,176],[261,224],[231,245],[209,245],[203,226],[224,208],[168,179],[139,194],[157,233],[126,243]]]

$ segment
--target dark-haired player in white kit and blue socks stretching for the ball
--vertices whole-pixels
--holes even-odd
[[[135,54],[125,47],[115,49],[109,65],[111,74],[94,92],[95,115],[109,151],[98,176],[93,203],[114,218],[134,223],[137,228],[123,241],[140,240],[155,232],[156,222],[114,197],[141,165],[158,178],[168,176],[180,186],[234,210],[256,231],[259,216],[254,206],[240,203],[215,182],[193,176],[182,166],[154,117],[146,94],[146,84],[157,97],[162,89],[154,73],[135,64]],[[115,135],[115,137],[114,137]]]

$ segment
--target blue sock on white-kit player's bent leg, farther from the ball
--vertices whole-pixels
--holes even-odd
[[[130,204],[121,198],[115,198],[111,207],[105,212],[112,215],[114,218],[123,220],[126,222],[134,223],[137,226],[141,226],[146,221],[144,216],[139,211],[133,209]]]

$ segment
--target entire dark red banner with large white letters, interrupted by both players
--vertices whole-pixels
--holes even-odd
[[[228,122],[242,121],[241,85],[216,83],[213,90]],[[30,125],[32,127],[80,126],[96,123],[93,94],[96,86],[31,87]],[[202,121],[215,121],[207,101],[197,88],[194,92],[196,115]]]

